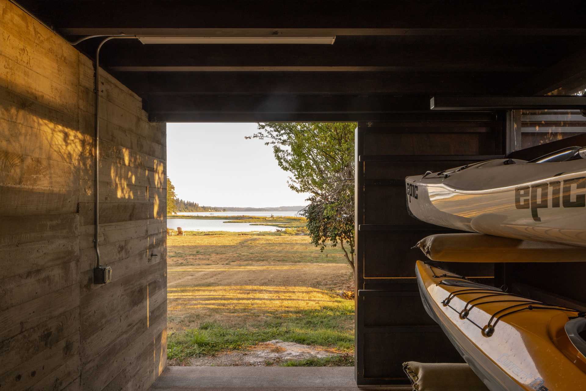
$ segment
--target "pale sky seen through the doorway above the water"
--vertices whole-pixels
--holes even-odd
[[[181,199],[206,206],[306,205],[272,148],[244,140],[255,123],[168,123],[167,175]]]

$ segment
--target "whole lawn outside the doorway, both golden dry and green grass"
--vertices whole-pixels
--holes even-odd
[[[281,339],[349,353],[281,365],[353,365],[354,301],[338,295],[351,283],[343,251],[307,236],[169,236],[169,363]]]

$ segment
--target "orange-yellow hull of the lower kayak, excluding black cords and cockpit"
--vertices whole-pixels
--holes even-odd
[[[470,288],[473,285],[469,285],[474,283],[444,271],[441,271],[444,273],[441,276],[435,276],[436,272],[440,274],[440,270],[417,262],[415,272],[425,310],[441,326],[462,358],[490,391],[586,389],[586,373],[575,363],[586,362],[586,358],[568,359],[571,354],[561,351],[550,338],[551,333],[560,333],[548,329],[556,323],[551,319],[561,317],[568,321],[575,313],[556,308],[520,311],[500,320],[493,328],[493,334],[486,336],[481,328],[490,324],[492,314],[516,302],[477,305],[462,318],[461,310],[466,302],[474,301],[479,295],[491,294],[499,297],[498,300],[531,300],[508,295],[493,287],[484,289],[482,287],[486,285],[479,285],[478,290],[456,295],[448,305],[444,305],[442,301],[449,295],[474,289]],[[442,277],[444,275],[446,277]],[[464,285],[447,285],[449,281],[461,281]],[[493,300],[493,297],[484,299],[486,302]],[[531,302],[534,306],[541,304]],[[563,329],[563,324],[560,327]]]

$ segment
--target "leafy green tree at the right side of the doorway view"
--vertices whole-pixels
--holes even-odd
[[[287,184],[310,193],[301,214],[311,242],[344,251],[354,271],[354,130],[356,123],[260,123],[246,137],[272,147],[278,165],[289,172]]]

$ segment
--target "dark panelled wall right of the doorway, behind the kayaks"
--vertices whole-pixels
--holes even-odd
[[[404,178],[505,154],[505,113],[398,114],[356,130],[356,380],[403,384],[404,361],[461,362],[425,313],[415,281],[418,240],[457,232],[409,216]],[[492,264],[445,264],[490,282]]]

